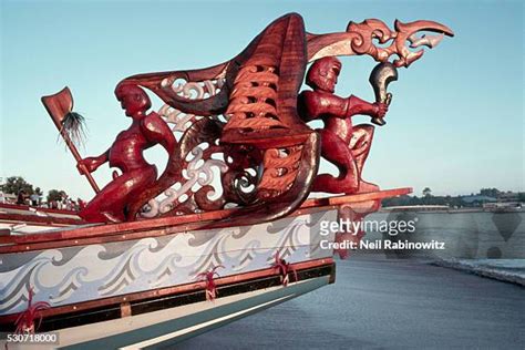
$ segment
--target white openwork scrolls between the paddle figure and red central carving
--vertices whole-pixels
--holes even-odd
[[[220,92],[224,79],[203,82],[165,79],[162,84],[184,99],[203,100]],[[185,113],[167,103],[158,110],[158,114],[168,125],[173,125],[171,128],[179,140],[177,162],[181,166],[176,175],[178,181],[156,198],[150,199],[141,216],[152,218],[199,213],[224,208],[228,203],[235,206],[245,204],[249,193],[246,187],[251,185],[254,188],[256,177],[245,168],[235,171],[230,152],[219,146],[218,141],[225,123],[217,115]],[[226,175],[228,171],[229,174]],[[216,177],[216,174],[219,176]],[[213,197],[215,199],[212,199]]]

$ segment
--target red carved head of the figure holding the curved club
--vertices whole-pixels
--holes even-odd
[[[306,83],[313,90],[333,93],[339,72],[341,72],[341,61],[337,58],[322,58],[311,64]]]

